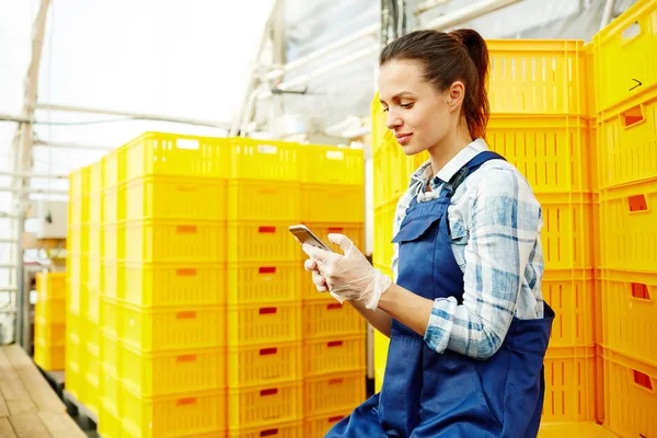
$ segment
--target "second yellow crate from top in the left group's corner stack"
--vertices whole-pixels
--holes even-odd
[[[147,176],[126,184],[126,219],[224,220],[226,181]]]

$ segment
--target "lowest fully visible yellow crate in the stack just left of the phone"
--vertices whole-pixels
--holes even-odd
[[[228,424],[231,429],[269,426],[302,417],[301,382],[228,390]]]

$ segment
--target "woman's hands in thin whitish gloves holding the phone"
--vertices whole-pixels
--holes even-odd
[[[343,234],[328,234],[328,240],[343,250],[344,255],[331,253],[303,244],[303,252],[310,256],[306,269],[313,272],[313,283],[318,290],[328,290],[338,301],[360,300],[367,309],[376,310],[379,299],[392,279],[376,269]]]

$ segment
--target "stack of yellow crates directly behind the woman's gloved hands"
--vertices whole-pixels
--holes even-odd
[[[347,235],[365,251],[365,163],[362,150],[301,146],[301,222],[331,244],[330,233]],[[299,253],[302,261],[308,258]],[[302,262],[299,264],[302,269]],[[319,293],[301,275],[304,357],[303,437],[323,437],[365,401],[366,326],[350,304]]]

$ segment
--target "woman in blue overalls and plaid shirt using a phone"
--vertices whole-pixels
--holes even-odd
[[[484,140],[488,53],[472,30],[419,31],[380,56],[379,95],[404,153],[428,151],[394,223],[393,283],[344,235],[303,245],[320,291],[390,336],[383,387],[328,437],[535,437],[554,313],[541,207]]]

